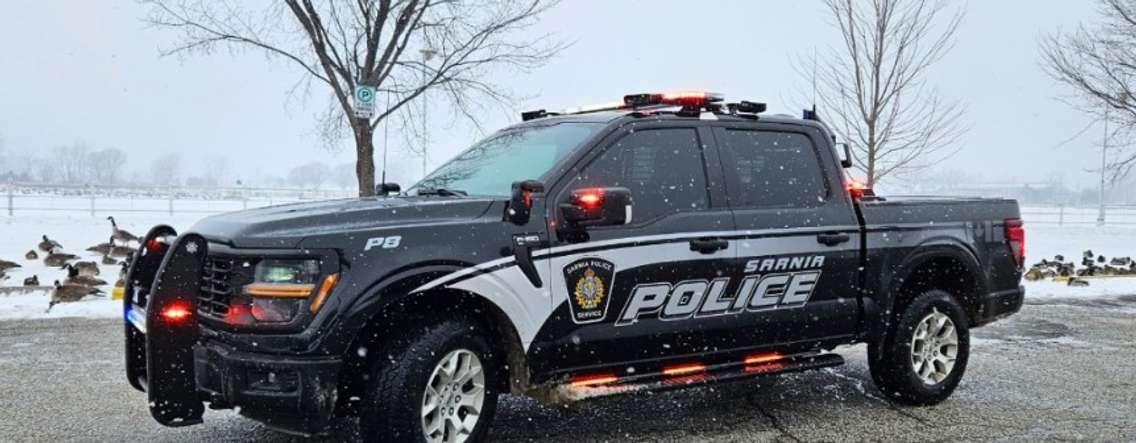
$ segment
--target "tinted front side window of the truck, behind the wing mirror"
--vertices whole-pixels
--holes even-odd
[[[702,148],[694,128],[635,131],[608,147],[570,189],[632,191],[633,224],[710,206]]]

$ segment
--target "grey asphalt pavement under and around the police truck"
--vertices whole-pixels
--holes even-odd
[[[900,408],[847,365],[719,387],[546,408],[504,398],[496,441],[1133,441],[1136,295],[1034,300],[974,333],[959,391]],[[289,441],[231,411],[164,428],[122,370],[117,320],[0,323],[0,441]],[[343,423],[327,440],[354,438]]]

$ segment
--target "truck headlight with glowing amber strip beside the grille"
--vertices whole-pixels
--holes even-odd
[[[248,315],[256,323],[289,323],[308,304],[314,293],[316,296],[310,309],[312,312],[318,310],[337,281],[336,274],[326,277],[320,274],[319,260],[264,259],[253,269],[252,283],[244,285],[241,293],[247,299]],[[240,316],[241,309],[235,312],[237,317],[243,317]],[[244,324],[249,318],[232,320]]]

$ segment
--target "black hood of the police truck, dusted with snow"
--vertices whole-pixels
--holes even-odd
[[[190,232],[235,248],[296,248],[304,237],[481,217],[479,198],[361,198],[273,206],[201,219]]]

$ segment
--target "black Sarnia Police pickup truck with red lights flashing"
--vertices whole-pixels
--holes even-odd
[[[946,399],[969,329],[1021,306],[1017,202],[876,197],[815,112],[762,111],[525,112],[404,192],[157,226],[126,282],[127,378],[164,425],[208,404],[301,434],[358,417],[376,441],[483,440],[501,393],[720,383],[853,343],[888,399]]]

